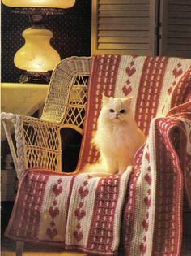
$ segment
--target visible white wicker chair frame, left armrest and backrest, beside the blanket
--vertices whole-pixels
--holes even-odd
[[[60,130],[74,128],[83,133],[89,72],[90,58],[64,59],[53,71],[40,119],[2,112],[2,124],[18,177],[30,167],[62,171]],[[10,122],[15,128],[16,150]]]

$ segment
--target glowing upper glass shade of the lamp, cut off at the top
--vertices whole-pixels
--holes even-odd
[[[51,7],[70,8],[75,0],[2,0],[8,7]]]

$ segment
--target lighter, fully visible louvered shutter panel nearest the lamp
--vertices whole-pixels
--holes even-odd
[[[153,0],[92,0],[91,54],[156,54]]]

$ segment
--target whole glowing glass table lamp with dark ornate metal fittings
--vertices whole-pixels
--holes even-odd
[[[27,71],[19,81],[43,76],[49,82],[49,71],[61,58],[49,43],[53,33],[45,28],[45,19],[47,15],[63,14],[64,9],[74,6],[75,0],[2,0],[2,3],[16,13],[28,14],[32,22],[32,27],[23,31],[25,44],[14,57],[15,66]]]

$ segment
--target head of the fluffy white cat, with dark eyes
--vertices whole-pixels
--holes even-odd
[[[128,122],[132,116],[130,103],[132,98],[112,98],[103,95],[100,118],[112,123]]]

